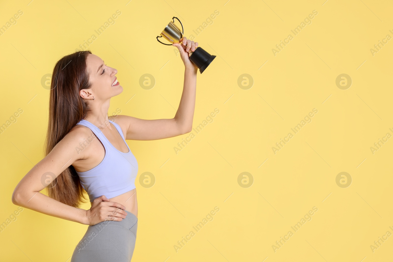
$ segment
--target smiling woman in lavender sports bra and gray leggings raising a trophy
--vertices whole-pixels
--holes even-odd
[[[188,52],[195,51],[198,43],[185,37],[182,42],[173,44],[185,71],[182,97],[172,119],[109,118],[110,98],[123,91],[118,71],[90,51],[66,55],[56,63],[46,157],[18,183],[12,202],[89,225],[71,262],[131,260],[138,224],[138,163],[125,139],[155,140],[190,132],[198,68]],[[49,197],[40,193],[45,187]],[[84,190],[90,198],[89,210],[78,208]]]

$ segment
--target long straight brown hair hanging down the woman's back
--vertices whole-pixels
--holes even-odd
[[[45,156],[87,115],[88,105],[79,91],[91,87],[86,66],[86,58],[91,53],[89,50],[76,51],[62,57],[53,68]],[[51,198],[64,204],[79,207],[86,202],[84,189],[72,165],[59,174],[47,189]]]

